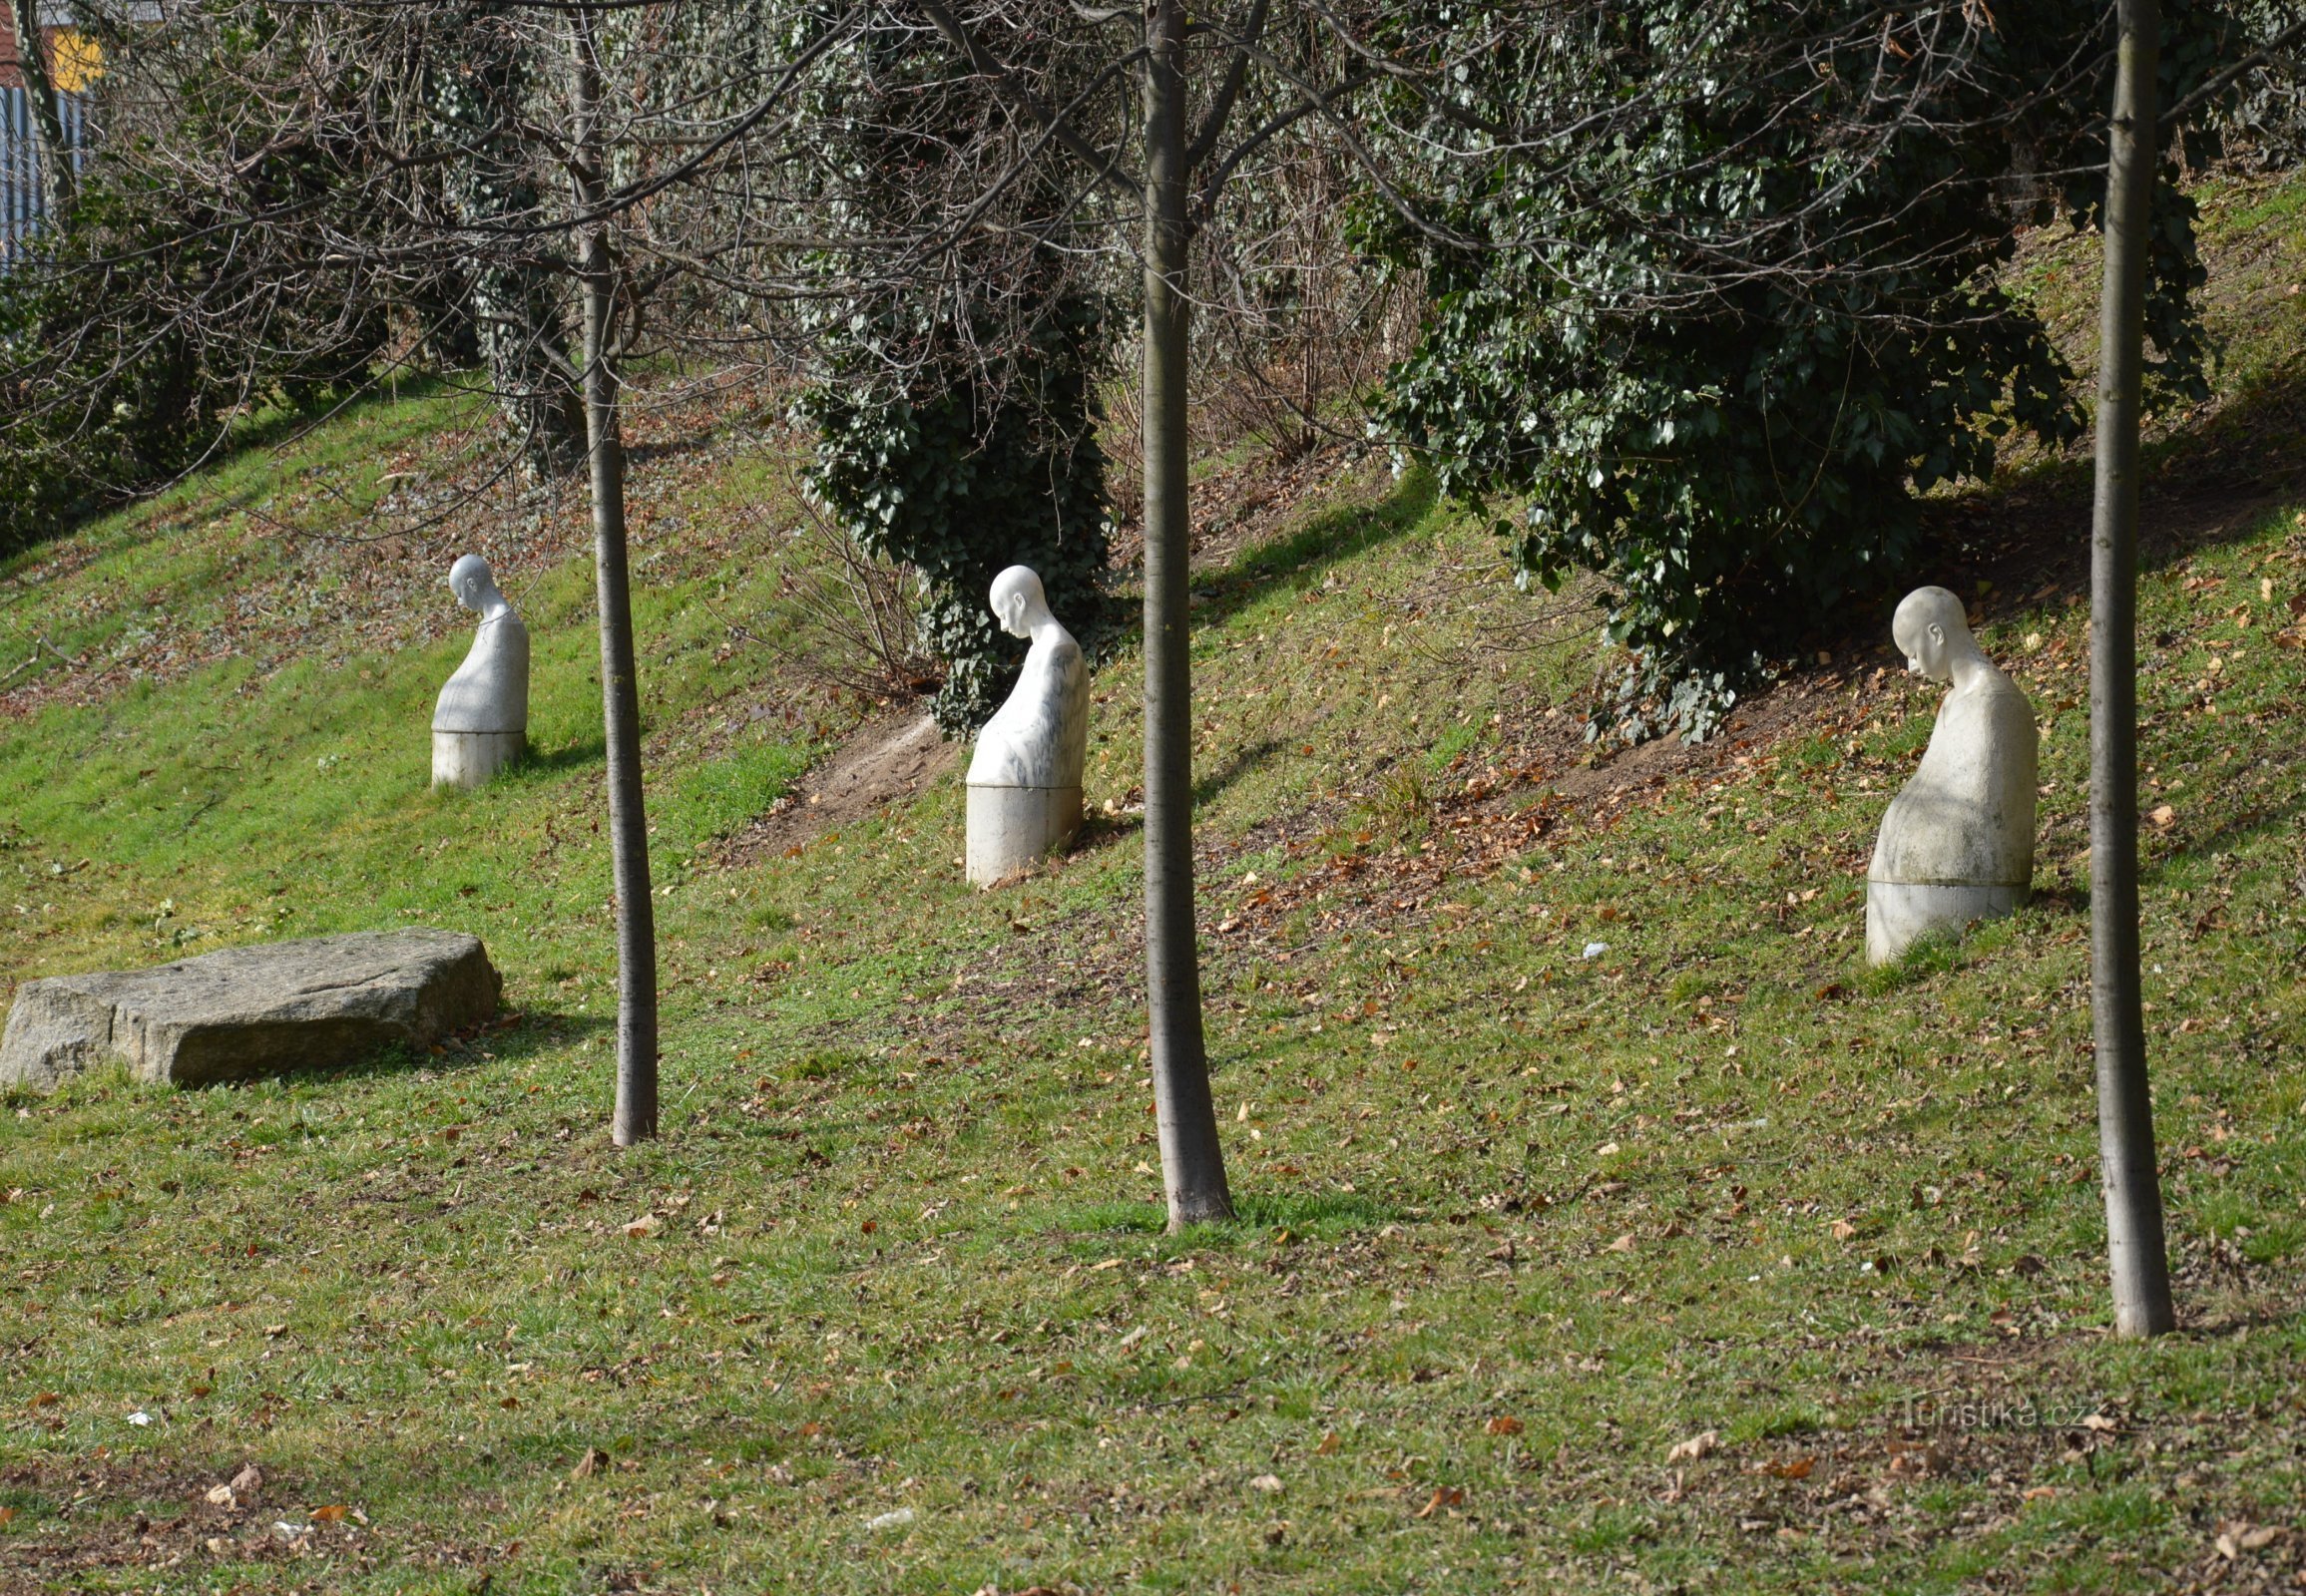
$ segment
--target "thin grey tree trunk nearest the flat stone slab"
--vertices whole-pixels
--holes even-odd
[[[602,74],[593,14],[570,16],[576,113],[579,214],[609,189],[602,148]],[[618,1146],[657,1135],[657,918],[648,888],[648,814],[641,805],[641,692],[632,648],[632,577],[625,565],[625,436],[613,369],[616,256],[609,221],[579,228],[583,251],[583,417],[593,459],[593,567],[600,584],[600,706],[609,733],[609,858],[616,869],[616,1121]]]

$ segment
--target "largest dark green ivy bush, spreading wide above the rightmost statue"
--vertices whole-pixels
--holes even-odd
[[[2018,231],[2094,226],[2108,7],[1642,0],[1531,30],[1469,83],[1540,136],[1437,175],[1467,244],[1393,221],[1427,272],[1386,417],[1499,514],[1529,581],[1612,588],[1630,664],[1598,729],[1702,736],[1803,632],[1907,579],[1914,494],[1983,477],[2013,429],[2080,427],[2041,318],[1997,281]],[[2225,25],[2168,7],[2165,92]],[[2057,173],[2036,178],[2034,173]],[[2163,171],[2149,332],[2200,394],[2193,205]]]

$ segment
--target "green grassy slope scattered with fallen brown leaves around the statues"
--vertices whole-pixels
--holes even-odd
[[[2228,256],[2297,258],[2297,210],[2258,210]],[[2306,339],[2299,300],[2246,307],[2253,348]],[[367,413],[318,447],[357,505],[454,420]],[[2202,417],[2165,470],[2218,427],[2297,420]],[[429,1061],[9,1100],[0,1587],[2101,1591],[2299,1568],[2306,763],[2301,655],[2269,643],[2306,593],[2297,505],[2165,537],[2145,579],[2188,1333],[2128,1347],[2103,1335],[2092,1181],[2071,572],[2004,579],[2048,595],[1983,632],[2041,708],[2041,902],[1866,976],[1866,849],[1932,710],[1877,627],[1787,729],[1757,706],[1755,740],[1612,793],[1545,715],[1577,616],[1531,623],[1414,482],[1349,475],[1218,554],[1208,1008],[1245,1222],[1162,1239],[1125,816],[992,895],[957,881],[952,777],[717,863],[807,752],[736,713],[766,664],[722,620],[775,609],[779,554],[745,512],[770,473],[717,459],[678,494],[639,482],[671,505],[641,544],[671,888],[648,1149],[604,1132],[565,505],[521,595],[542,759],[487,793],[424,791],[461,643],[360,590],[360,558],[323,572],[341,613],[251,632],[270,653],[0,724],[0,969],[427,920],[484,934],[519,1010]],[[314,464],[235,470],[263,507]],[[60,650],[134,653],[155,595],[224,607],[270,558],[244,514],[152,526],[30,574],[23,602],[83,627]],[[1098,680],[1093,800],[1132,780],[1130,671]],[[2025,1407],[1928,1423],[1958,1402]],[[208,1504],[244,1460],[258,1508]],[[339,1504],[360,1515],[309,1511]]]

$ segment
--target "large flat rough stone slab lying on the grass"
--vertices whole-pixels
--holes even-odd
[[[427,929],[28,980],[0,1033],[0,1086],[48,1089],[115,1059],[175,1086],[325,1070],[431,1047],[496,1015],[503,989],[477,936]]]

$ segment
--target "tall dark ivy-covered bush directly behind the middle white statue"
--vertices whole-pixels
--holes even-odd
[[[807,25],[826,25],[821,12]],[[1024,67],[1061,74],[1070,62]],[[1061,247],[1077,196],[1042,175],[955,166],[998,101],[934,30],[858,30],[814,92],[819,127],[837,129],[814,161],[819,214],[851,242],[816,263],[823,298],[809,332],[823,371],[798,404],[816,429],[805,482],[867,551],[918,572],[920,637],[945,664],[929,708],[966,733],[1024,662],[1026,643],[987,609],[1003,567],[1031,565],[1049,609],[1098,653],[1105,300]],[[936,251],[897,270],[874,254],[948,208],[973,221]]]

